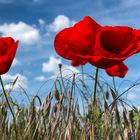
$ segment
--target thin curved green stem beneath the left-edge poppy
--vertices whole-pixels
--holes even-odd
[[[4,96],[5,96],[7,105],[8,105],[8,107],[9,107],[10,112],[11,112],[12,117],[13,117],[13,123],[14,123],[14,129],[15,129],[15,136],[16,136],[16,140],[17,140],[16,118],[15,118],[14,112],[13,112],[13,110],[12,110],[12,107],[11,107],[11,105],[10,105],[10,102],[9,102],[9,100],[8,100],[8,96],[7,96],[7,93],[6,93],[6,91],[5,91],[5,88],[4,88],[4,84],[3,84],[3,81],[2,81],[1,75],[0,75],[0,83],[1,83],[1,86],[2,86],[2,90],[3,90]]]

